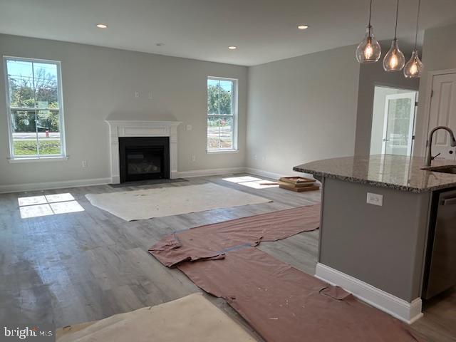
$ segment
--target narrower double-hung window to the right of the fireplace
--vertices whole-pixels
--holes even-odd
[[[237,150],[237,80],[207,78],[207,151]]]

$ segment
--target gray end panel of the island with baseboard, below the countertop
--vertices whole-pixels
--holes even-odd
[[[368,194],[380,195],[376,204],[381,205],[368,204]],[[340,286],[325,279],[325,269],[341,274],[341,281],[343,276],[344,281],[355,279],[355,289],[359,285],[361,292],[376,291],[378,301],[386,298],[410,312],[397,314],[375,303],[375,298],[363,299],[403,321],[413,321],[415,312],[421,312],[431,194],[324,177],[316,276]],[[356,295],[353,289],[348,291]]]

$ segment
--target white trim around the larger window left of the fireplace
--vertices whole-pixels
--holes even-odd
[[[56,64],[57,66],[57,82],[58,82],[58,116],[59,116],[59,130],[61,140],[61,154],[60,155],[14,155],[13,148],[13,132],[11,131],[11,103],[9,102],[9,83],[8,83],[8,67],[6,66],[7,60],[24,61],[24,62],[38,62],[38,63],[50,63]],[[65,121],[63,115],[63,86],[62,86],[62,75],[61,75],[61,62],[52,61],[49,59],[40,58],[25,58],[15,56],[3,56],[4,65],[4,81],[5,81],[5,92],[6,92],[6,122],[8,124],[8,140],[9,140],[9,162],[36,162],[36,161],[51,161],[51,160],[68,160],[66,154],[66,139],[65,139]]]

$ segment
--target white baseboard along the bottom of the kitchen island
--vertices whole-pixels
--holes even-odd
[[[365,301],[371,306],[385,311],[387,314],[412,324],[423,317],[421,312],[422,302],[420,298],[414,299],[410,303],[392,294],[365,283],[359,279],[349,276],[341,271],[318,262],[316,274],[318,279],[326,281],[331,285],[341,286],[344,290],[351,292],[353,296]]]

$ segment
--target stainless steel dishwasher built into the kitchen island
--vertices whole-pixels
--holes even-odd
[[[423,298],[430,299],[456,285],[456,190],[433,199]]]

